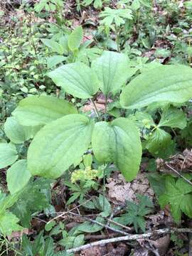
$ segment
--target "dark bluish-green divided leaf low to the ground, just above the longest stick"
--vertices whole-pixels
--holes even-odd
[[[151,213],[154,208],[154,204],[147,196],[137,195],[139,203],[127,201],[127,213],[122,214],[120,217],[115,217],[113,220],[122,225],[134,225],[134,229],[138,233],[138,229],[141,228],[145,232],[145,215]],[[115,226],[117,228],[117,226]]]

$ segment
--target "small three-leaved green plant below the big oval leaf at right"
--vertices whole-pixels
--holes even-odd
[[[156,110],[155,110],[156,111]],[[174,153],[175,142],[172,140],[169,131],[166,132],[166,127],[172,129],[184,129],[187,124],[186,114],[183,110],[173,106],[166,105],[162,107],[160,112],[161,118],[159,124],[154,122],[153,117],[147,110],[145,112],[136,112],[129,116],[139,128],[143,142],[143,149],[149,150],[154,156],[165,158]]]

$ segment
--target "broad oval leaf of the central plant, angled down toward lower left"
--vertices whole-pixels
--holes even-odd
[[[88,148],[92,122],[81,114],[68,114],[47,124],[28,148],[28,170],[46,178],[58,178]]]

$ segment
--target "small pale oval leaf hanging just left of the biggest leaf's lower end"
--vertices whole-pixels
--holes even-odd
[[[6,172],[6,182],[11,194],[21,190],[31,178],[31,173],[27,169],[27,161],[16,161]]]

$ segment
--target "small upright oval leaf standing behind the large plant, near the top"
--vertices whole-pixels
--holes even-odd
[[[70,50],[78,50],[80,47],[80,43],[82,41],[83,37],[83,31],[82,31],[82,26],[78,26],[77,28],[74,29],[72,33],[70,33],[68,37],[68,47]]]

